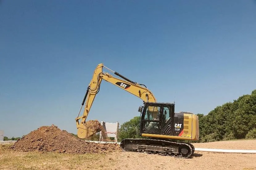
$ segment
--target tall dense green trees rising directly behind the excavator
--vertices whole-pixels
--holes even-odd
[[[197,113],[199,118],[199,141],[256,138],[256,89],[233,102],[217,106],[207,115]],[[139,119],[134,117],[119,129],[118,141],[139,136]]]

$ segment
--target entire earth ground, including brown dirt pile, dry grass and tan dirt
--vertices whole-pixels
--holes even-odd
[[[193,145],[195,148],[256,150],[256,140]],[[195,151],[191,158],[183,159],[122,152],[118,144],[90,143],[52,125],[30,132],[15,144],[0,144],[0,169],[256,170],[256,154]]]

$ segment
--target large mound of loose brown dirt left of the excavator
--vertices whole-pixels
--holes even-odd
[[[41,151],[65,153],[108,153],[121,151],[118,144],[99,144],[81,140],[57,126],[41,126],[23,136],[11,147],[15,151]]]

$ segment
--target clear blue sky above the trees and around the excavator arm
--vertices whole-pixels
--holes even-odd
[[[99,63],[175,111],[208,114],[256,89],[256,1],[0,1],[0,129],[75,117]],[[142,101],[102,81],[87,120],[122,124]]]

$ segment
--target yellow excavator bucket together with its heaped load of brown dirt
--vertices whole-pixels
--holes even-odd
[[[77,136],[79,138],[89,138],[95,135],[97,132],[103,130],[104,128],[99,121],[87,121],[83,124],[79,124],[77,129]]]

